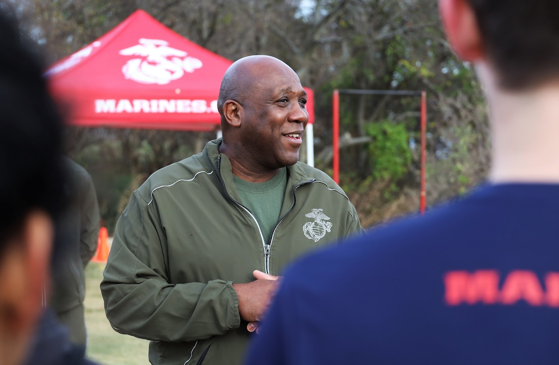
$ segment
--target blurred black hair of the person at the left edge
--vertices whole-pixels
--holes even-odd
[[[49,96],[39,52],[5,2],[0,2],[0,50],[1,255],[31,211],[58,219],[65,180],[63,122]]]

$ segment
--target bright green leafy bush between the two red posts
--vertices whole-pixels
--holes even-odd
[[[388,120],[368,124],[367,135],[371,136],[369,157],[371,176],[377,181],[390,181],[387,195],[396,191],[397,183],[405,176],[411,164],[409,136],[403,124]]]

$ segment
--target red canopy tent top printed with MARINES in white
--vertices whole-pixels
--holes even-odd
[[[229,65],[137,10],[46,74],[55,98],[71,106],[70,124],[212,131],[220,125],[217,95]],[[313,94],[305,89],[312,123]]]

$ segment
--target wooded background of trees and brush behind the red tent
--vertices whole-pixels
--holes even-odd
[[[449,48],[437,2],[316,0],[306,2],[305,12],[300,0],[15,3],[28,23],[22,29],[49,51],[49,63],[105,34],[138,7],[225,58],[269,54],[282,59],[302,84],[314,89],[315,156],[326,160],[321,168],[330,168],[326,152],[336,88],[427,91],[429,204],[467,191],[489,165],[480,85],[473,67]],[[339,108],[340,135],[373,138],[370,146],[342,150],[340,179],[348,195],[362,193],[359,214],[383,211],[383,195],[409,199],[402,192],[419,186],[419,148],[409,145],[409,139],[419,141],[419,98],[342,94]],[[385,121],[371,124],[377,120]],[[198,153],[202,142],[213,138],[190,135],[84,131],[69,157],[92,174],[110,230],[131,192],[150,173]]]

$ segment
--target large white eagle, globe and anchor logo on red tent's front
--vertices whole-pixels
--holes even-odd
[[[119,51],[123,56],[145,57],[126,62],[122,73],[127,79],[142,84],[164,85],[183,77],[184,72],[193,73],[202,67],[201,60],[187,57],[185,51],[169,47],[167,41],[140,38],[138,42],[138,45]]]

